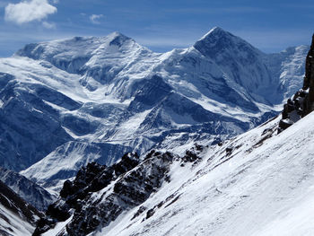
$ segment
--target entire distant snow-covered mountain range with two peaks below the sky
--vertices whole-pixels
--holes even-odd
[[[219,143],[282,109],[307,48],[266,55],[220,28],[163,54],[117,32],[27,45],[0,59],[0,165],[58,189],[88,162]]]

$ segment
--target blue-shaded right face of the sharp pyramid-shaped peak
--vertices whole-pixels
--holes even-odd
[[[269,88],[277,86],[278,80],[269,72],[266,55],[249,42],[215,27],[197,40],[193,48],[225,72],[232,88],[240,88],[240,93],[254,93],[259,102],[274,103],[276,95],[269,94]]]

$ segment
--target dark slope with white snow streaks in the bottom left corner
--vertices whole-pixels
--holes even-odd
[[[42,214],[0,180],[0,235],[31,236]]]

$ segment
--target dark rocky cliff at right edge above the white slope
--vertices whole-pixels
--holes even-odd
[[[292,99],[283,105],[282,119],[278,132],[283,131],[293,123],[314,110],[314,34],[308,56],[305,62],[303,87],[296,92]]]

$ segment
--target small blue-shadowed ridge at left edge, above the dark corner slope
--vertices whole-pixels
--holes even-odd
[[[39,211],[46,211],[48,205],[57,199],[56,196],[48,193],[46,189],[13,170],[6,170],[0,167],[0,180]]]

